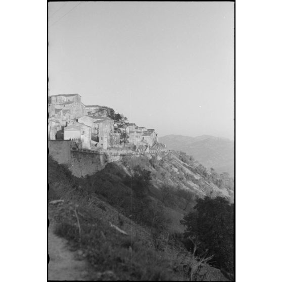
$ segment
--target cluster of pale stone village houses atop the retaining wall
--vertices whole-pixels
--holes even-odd
[[[153,147],[158,142],[155,129],[138,127],[125,118],[114,121],[99,111],[101,106],[86,106],[78,94],[48,97],[48,138],[77,140],[82,148],[97,150],[129,146]]]

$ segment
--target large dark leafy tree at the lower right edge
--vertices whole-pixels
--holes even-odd
[[[213,265],[233,273],[233,204],[217,197],[198,199],[195,211],[184,216],[187,248],[213,255]]]

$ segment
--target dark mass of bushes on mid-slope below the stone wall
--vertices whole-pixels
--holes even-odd
[[[149,197],[151,172],[136,166],[132,177],[120,175],[119,179],[113,174],[115,172],[121,173],[115,164],[110,163],[105,170],[87,176],[86,181],[91,183],[89,194],[95,192],[104,197],[111,206],[141,225],[162,230],[167,220],[160,203]]]

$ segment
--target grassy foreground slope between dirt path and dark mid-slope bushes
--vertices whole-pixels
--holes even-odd
[[[145,229],[130,219],[126,219],[123,226],[130,236],[110,227],[109,221],[118,225],[118,212],[95,195],[87,199],[79,190],[79,186],[69,181],[66,172],[60,165],[49,161],[49,200],[64,199],[64,203],[59,206],[49,205],[49,214],[57,223],[55,232],[70,240],[74,248],[83,250],[91,265],[92,279],[101,278],[99,273],[107,270],[112,270],[115,277],[104,277],[106,279],[173,278],[173,274],[167,271],[166,260],[157,252],[151,251],[153,243]],[[83,185],[83,179],[81,182],[77,179],[77,183]],[[81,241],[73,211],[76,205]]]

